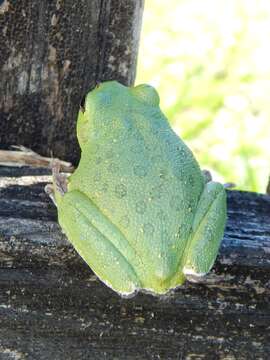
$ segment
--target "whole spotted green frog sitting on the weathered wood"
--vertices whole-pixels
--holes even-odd
[[[77,135],[81,160],[56,194],[58,216],[96,275],[129,296],[206,274],[224,232],[225,191],[206,183],[156,90],[102,83],[86,97]]]

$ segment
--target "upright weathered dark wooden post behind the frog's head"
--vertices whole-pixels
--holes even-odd
[[[135,77],[143,0],[0,1],[0,144],[76,162],[97,82]]]

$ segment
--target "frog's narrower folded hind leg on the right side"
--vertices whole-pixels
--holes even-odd
[[[224,233],[226,211],[224,187],[212,181],[205,184],[185,256],[185,275],[203,276],[213,266]]]

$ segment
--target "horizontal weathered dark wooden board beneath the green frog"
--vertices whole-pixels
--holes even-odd
[[[122,299],[61,234],[47,174],[0,167],[0,359],[270,358],[269,196],[228,191],[200,284]]]

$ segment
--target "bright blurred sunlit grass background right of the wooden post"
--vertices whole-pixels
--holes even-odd
[[[136,84],[144,82],[215,180],[265,193],[269,0],[145,0]]]

